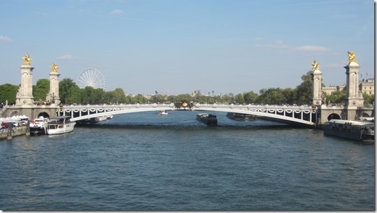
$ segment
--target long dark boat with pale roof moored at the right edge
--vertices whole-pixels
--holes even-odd
[[[323,125],[325,135],[374,142],[374,122],[331,119]]]

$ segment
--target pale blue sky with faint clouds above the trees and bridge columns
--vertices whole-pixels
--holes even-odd
[[[371,0],[1,0],[0,85],[76,82],[99,70],[106,91],[131,94],[259,92],[294,88],[318,61],[326,86],[346,82],[347,51],[374,78]]]

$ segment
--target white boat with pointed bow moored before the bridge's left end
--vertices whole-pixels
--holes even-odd
[[[73,131],[76,122],[71,122],[70,116],[60,116],[50,118],[47,124],[48,135],[59,135]]]

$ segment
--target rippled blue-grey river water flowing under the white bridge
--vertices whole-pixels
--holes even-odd
[[[375,210],[375,147],[199,112],[0,141],[0,210]]]

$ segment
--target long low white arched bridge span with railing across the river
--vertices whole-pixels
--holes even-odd
[[[234,104],[200,104],[188,105],[177,108],[174,103],[166,104],[120,104],[120,105],[64,105],[57,109],[57,115],[71,116],[72,121],[118,115],[131,112],[148,112],[159,110],[193,110],[236,112],[255,115],[261,119],[294,124],[299,126],[315,127],[318,121],[318,110],[312,106],[287,106],[287,105],[234,105]]]

